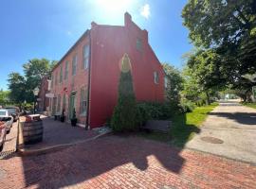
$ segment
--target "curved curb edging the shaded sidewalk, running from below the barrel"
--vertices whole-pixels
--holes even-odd
[[[39,148],[39,149],[24,149],[24,148],[19,148],[17,149],[17,153],[20,155],[20,156],[36,156],[36,155],[42,155],[42,154],[46,154],[46,153],[50,153],[50,152],[56,152],[57,150],[62,150],[66,147],[69,147],[69,146],[76,146],[76,145],[79,145],[79,144],[82,144],[82,143],[86,143],[86,142],[89,142],[89,141],[93,141],[93,140],[96,140],[100,137],[103,137],[105,135],[108,135],[110,134],[111,132],[105,132],[105,133],[101,133],[97,136],[94,136],[92,138],[89,138],[89,139],[85,139],[85,140],[81,140],[81,141],[77,141],[77,142],[74,142],[74,143],[66,143],[66,144],[62,144],[62,145],[55,145],[55,146],[48,146],[48,147],[43,147],[43,148]]]

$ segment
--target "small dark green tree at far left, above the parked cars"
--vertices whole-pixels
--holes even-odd
[[[25,77],[21,76],[19,73],[13,72],[9,74],[8,81],[9,99],[21,107],[21,104],[26,100],[27,96]]]

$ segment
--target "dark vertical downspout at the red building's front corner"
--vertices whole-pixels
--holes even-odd
[[[87,87],[87,106],[86,106],[86,123],[85,129],[89,128],[89,111],[90,111],[90,89],[91,89],[91,56],[92,56],[92,43],[91,43],[91,30],[89,31],[89,65],[88,65],[88,87]]]

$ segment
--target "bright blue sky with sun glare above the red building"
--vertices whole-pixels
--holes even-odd
[[[8,89],[10,72],[23,73],[33,58],[60,60],[92,21],[123,25],[128,11],[149,32],[157,58],[182,67],[192,49],[182,26],[185,0],[2,0],[0,3],[0,89]]]

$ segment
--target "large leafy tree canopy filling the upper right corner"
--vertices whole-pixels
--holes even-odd
[[[202,49],[190,67],[199,69],[204,86],[241,88],[243,76],[256,70],[256,0],[190,0],[182,17]]]

